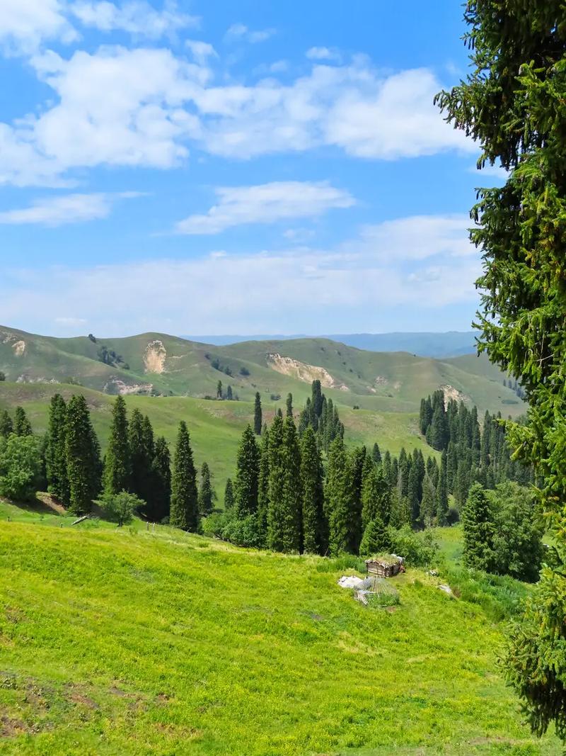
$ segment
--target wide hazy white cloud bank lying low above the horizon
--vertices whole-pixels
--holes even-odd
[[[397,224],[403,222],[413,225],[412,218]],[[394,246],[388,228],[392,225],[384,225],[373,247],[353,240],[337,250],[303,247],[79,270],[8,270],[0,279],[2,317],[38,330],[45,312],[73,313],[91,330],[117,335],[143,330],[276,333],[281,323],[291,333],[340,333],[346,323],[368,330],[369,318],[395,307],[414,313],[418,329],[427,311],[438,318],[442,308],[475,306],[479,253],[460,256],[457,240],[447,246],[439,231],[438,248],[444,252],[407,268],[402,259],[384,253]]]

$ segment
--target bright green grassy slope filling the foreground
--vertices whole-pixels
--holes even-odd
[[[521,725],[500,625],[441,578],[409,569],[372,609],[339,562],[18,511],[0,503],[7,756],[561,752]]]

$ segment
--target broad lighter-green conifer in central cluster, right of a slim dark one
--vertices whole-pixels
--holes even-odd
[[[357,532],[352,528],[352,469],[340,436],[328,452],[328,473],[325,486],[325,513],[328,519],[328,548],[331,556],[352,552]]]

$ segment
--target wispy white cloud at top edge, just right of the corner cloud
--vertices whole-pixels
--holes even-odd
[[[119,29],[149,39],[170,36],[187,26],[198,26],[198,18],[180,13],[176,2],[165,2],[158,11],[146,0],[127,0],[122,5],[107,0],[76,0],[69,10],[84,26],[94,26],[103,32]]]

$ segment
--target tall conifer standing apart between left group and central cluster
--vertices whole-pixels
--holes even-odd
[[[198,529],[198,491],[195,464],[192,460],[189,432],[181,420],[171,476],[171,514],[169,522],[181,530]]]

